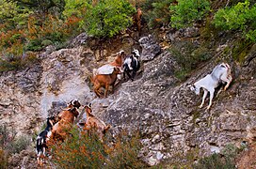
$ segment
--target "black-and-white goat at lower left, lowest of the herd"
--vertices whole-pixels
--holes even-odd
[[[41,131],[40,134],[37,137],[37,161],[39,165],[42,165],[42,158],[45,158],[46,156],[46,148],[48,146],[46,145],[46,142],[49,140],[53,126],[56,124],[56,117],[50,116],[47,117],[46,121],[46,128],[44,131]]]

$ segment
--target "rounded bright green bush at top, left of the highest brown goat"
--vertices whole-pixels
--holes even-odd
[[[87,5],[84,22],[88,34],[96,38],[111,38],[132,24],[135,8],[127,0],[104,0]]]

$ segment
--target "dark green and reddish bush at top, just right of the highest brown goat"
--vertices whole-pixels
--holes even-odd
[[[170,20],[169,6],[174,0],[146,0],[142,5],[143,16],[150,27],[166,25]]]

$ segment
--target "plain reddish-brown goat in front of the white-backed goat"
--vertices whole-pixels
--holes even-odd
[[[99,98],[101,98],[101,93],[99,89],[101,87],[104,87],[104,98],[106,98],[109,85],[112,85],[114,87],[114,84],[117,81],[117,77],[120,73],[120,69],[114,68],[114,71],[111,74],[97,74],[96,76],[91,78],[90,81],[93,84],[95,94]]]

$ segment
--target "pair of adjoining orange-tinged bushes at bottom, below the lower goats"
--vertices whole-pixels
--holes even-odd
[[[137,137],[122,135],[115,143],[101,142],[95,131],[72,129],[72,137],[62,144],[55,143],[53,161],[59,168],[142,168],[137,159],[140,148]],[[108,143],[108,144],[107,144]]]

